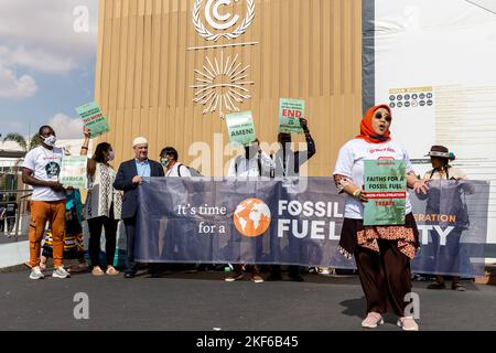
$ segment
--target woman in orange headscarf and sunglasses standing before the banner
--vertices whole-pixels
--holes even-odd
[[[364,226],[363,222],[364,203],[368,202],[367,194],[362,191],[365,160],[405,160],[408,186],[416,192],[427,192],[425,182],[416,176],[405,148],[391,140],[391,121],[389,106],[371,107],[362,120],[360,135],[339,150],[333,174],[338,191],[347,194],[339,253],[347,258],[355,257],[358,268],[367,299],[367,317],[362,327],[376,328],[384,323],[384,313],[393,312],[399,317],[399,327],[417,331],[419,327],[414,319],[405,313],[408,304],[405,296],[411,292],[410,260],[419,246],[419,232],[408,193],[405,224]]]

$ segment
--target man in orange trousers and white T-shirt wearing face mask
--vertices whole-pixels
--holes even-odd
[[[30,223],[30,278],[42,279],[40,269],[41,242],[46,222],[51,224],[53,236],[53,278],[67,278],[63,266],[65,229],[65,191],[58,182],[64,152],[55,147],[55,131],[50,126],[39,130],[41,146],[25,156],[22,164],[22,181],[33,186]]]

